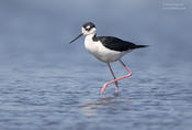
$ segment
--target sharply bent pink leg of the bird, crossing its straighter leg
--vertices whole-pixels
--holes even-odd
[[[114,80],[111,80],[111,82],[109,82],[109,83],[105,83],[105,84],[103,85],[101,91],[100,91],[101,95],[104,93],[104,90],[105,90],[105,88],[106,88],[108,85],[110,85],[110,84],[112,84],[112,83],[115,83],[115,82],[117,82],[117,80],[121,80],[121,79],[123,79],[123,78],[127,78],[127,77],[131,77],[131,76],[132,76],[131,69],[129,69],[121,59],[120,59],[120,63],[125,67],[125,69],[128,72],[128,74],[125,75],[125,76],[122,76],[122,77],[120,77],[120,78],[116,78],[116,79],[114,79]]]

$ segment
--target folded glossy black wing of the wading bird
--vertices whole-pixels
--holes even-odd
[[[105,47],[113,51],[123,52],[123,51],[134,50],[137,47],[137,45],[135,45],[132,42],[123,41],[121,39],[113,37],[113,36],[98,36],[98,37],[94,37],[94,40],[100,41]]]

